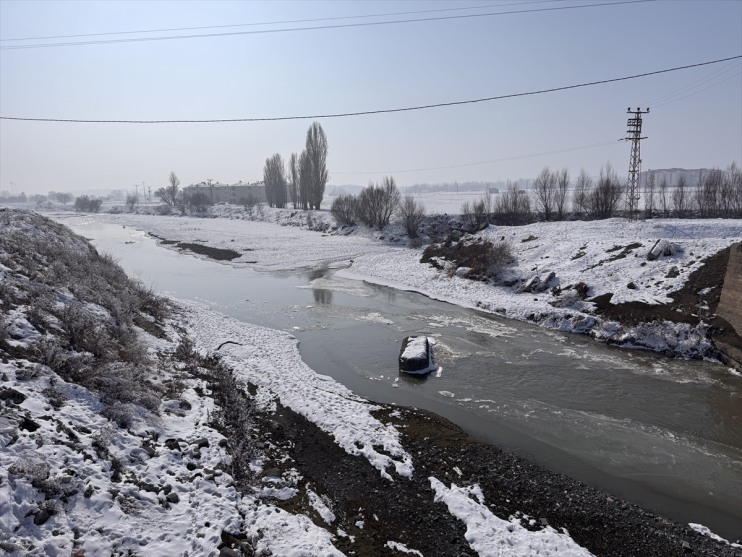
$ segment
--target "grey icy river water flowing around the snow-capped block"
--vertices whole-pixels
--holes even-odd
[[[431,410],[551,470],[742,537],[742,377],[724,366],[616,349],[332,269],[258,273],[129,227],[74,219],[73,229],[162,294],[292,332],[309,366],[363,397]],[[435,339],[438,374],[399,374],[409,334]]]

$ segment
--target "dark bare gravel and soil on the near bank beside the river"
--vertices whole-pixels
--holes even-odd
[[[256,438],[265,442],[268,456],[266,476],[291,468],[301,475],[296,481],[299,494],[275,503],[305,513],[335,533],[335,545],[346,555],[400,555],[387,546],[388,541],[426,557],[476,555],[464,537],[464,524],[444,503],[435,502],[431,476],[447,486],[476,483],[496,516],[517,516],[531,530],[545,524],[565,528],[597,556],[742,555],[742,550],[685,525],[481,443],[435,414],[381,406],[375,415],[402,433],[415,466],[412,479],[394,474],[393,482],[382,478],[364,457],[349,455],[328,434],[288,408],[279,405],[275,413],[256,416]],[[306,488],[330,502],[336,517],[332,524],[311,506]],[[689,547],[684,548],[684,542]],[[243,548],[250,554],[248,543]]]

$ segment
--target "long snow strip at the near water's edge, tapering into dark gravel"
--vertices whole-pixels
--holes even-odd
[[[276,396],[281,404],[332,435],[348,453],[367,458],[385,478],[392,479],[389,469],[411,477],[412,458],[403,449],[399,432],[371,415],[377,406],[307,366],[293,336],[247,325],[196,304],[183,305],[191,308],[188,328],[198,345],[215,351],[231,341],[218,353],[240,379],[260,388],[258,399],[268,397],[263,404]]]

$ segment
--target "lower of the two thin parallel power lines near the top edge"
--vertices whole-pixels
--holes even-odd
[[[344,29],[354,27],[371,27],[379,25],[392,25],[401,23],[422,23],[431,21],[444,21],[452,19],[472,19],[477,17],[490,17],[498,15],[513,15],[513,14],[525,14],[525,13],[537,13],[537,12],[554,12],[561,10],[579,10],[584,8],[597,8],[605,6],[618,6],[623,4],[645,4],[647,2],[656,2],[657,0],[621,0],[619,2],[601,2],[597,4],[578,4],[571,6],[556,6],[552,8],[531,8],[526,10],[509,10],[504,12],[488,12],[483,14],[459,14],[459,15],[447,15],[440,17],[421,17],[413,19],[396,19],[389,21],[366,21],[359,23],[343,23],[340,25],[317,25],[314,27],[288,27],[284,29],[260,29],[255,31],[229,31],[224,33],[203,33],[203,34],[192,34],[192,35],[172,35],[162,37],[136,37],[130,39],[103,39],[95,41],[77,41],[77,42],[57,42],[57,43],[37,43],[37,44],[24,44],[24,45],[8,45],[1,46],[0,50],[22,50],[29,48],[49,48],[59,46],[86,46],[86,45],[97,45],[97,44],[113,44],[113,43],[138,43],[138,42],[149,42],[149,41],[171,41],[180,39],[202,39],[209,37],[232,37],[238,35],[264,35],[269,33],[289,33],[294,31],[318,31],[326,29]]]

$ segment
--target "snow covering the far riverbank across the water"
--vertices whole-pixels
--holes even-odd
[[[475,236],[506,241],[515,263],[503,278],[522,282],[554,273],[541,292],[517,292],[517,287],[473,281],[420,263],[423,247],[410,247],[398,227],[383,232],[362,226],[352,232],[334,229],[329,213],[313,213],[313,222],[332,233],[307,230],[306,214],[290,209],[265,209],[270,222],[248,220],[244,209],[212,208],[219,218],[100,214],[67,215],[65,219],[100,219],[134,226],[158,237],[203,243],[243,253],[229,264],[259,270],[319,266],[341,268],[336,276],[365,280],[434,299],[518,320],[532,320],[564,332],[589,334],[627,346],[687,356],[711,350],[704,325],[653,322],[623,327],[592,314],[593,304],[580,301],[570,285],[583,282],[588,296],[612,293],[612,303],[638,301],[662,304],[687,280],[704,258],[742,240],[739,219],[655,219],[490,226]],[[281,226],[283,224],[284,226]],[[346,235],[347,233],[347,235]],[[672,255],[649,261],[646,254],[660,241]],[[640,245],[637,245],[640,244]],[[559,286],[561,294],[552,293]]]

